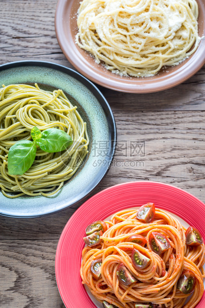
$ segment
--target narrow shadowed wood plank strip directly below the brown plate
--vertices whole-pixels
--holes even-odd
[[[130,112],[205,110],[205,67],[174,88],[156,93],[130,94],[99,86],[113,110]]]

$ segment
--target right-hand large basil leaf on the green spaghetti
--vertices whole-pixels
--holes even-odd
[[[36,140],[36,144],[41,150],[48,153],[66,150],[72,143],[72,138],[57,128],[49,128],[43,131],[41,133],[41,139]]]

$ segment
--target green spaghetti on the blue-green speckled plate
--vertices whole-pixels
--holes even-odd
[[[38,143],[36,145],[32,141],[31,131],[34,128],[40,134],[42,133],[42,136],[43,134],[46,136],[46,132],[52,135],[53,131],[56,135],[60,130],[61,135],[66,133],[73,142],[67,143],[69,146],[61,148],[63,149],[61,152],[56,151],[56,143],[50,142],[49,147],[53,147],[53,152],[56,152],[48,153],[43,144],[44,151]],[[8,172],[9,149],[17,144],[21,145],[16,150],[18,156],[21,155],[21,151],[23,153],[24,144],[32,144],[36,152],[33,164],[30,160],[31,167],[29,165],[25,168],[26,166],[23,165],[22,170],[27,171],[23,174],[17,173],[19,175]],[[0,188],[3,195],[8,198],[22,195],[54,195],[63,186],[64,181],[70,179],[77,171],[88,153],[88,145],[86,123],[78,113],[77,106],[71,104],[62,90],[46,91],[40,89],[37,84],[35,86],[2,85],[0,88]],[[28,162],[30,152],[22,155]],[[21,164],[27,162],[22,159]]]

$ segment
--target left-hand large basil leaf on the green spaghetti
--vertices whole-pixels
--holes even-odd
[[[35,157],[35,142],[29,140],[17,142],[8,151],[8,174],[24,174],[31,167]]]

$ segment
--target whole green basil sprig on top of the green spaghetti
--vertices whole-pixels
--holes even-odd
[[[72,138],[64,131],[49,128],[41,133],[38,127],[31,130],[33,141],[21,140],[8,151],[8,174],[22,175],[33,164],[36,157],[36,146],[42,151],[55,153],[66,150],[72,145]]]

